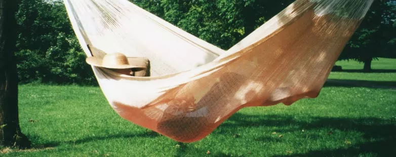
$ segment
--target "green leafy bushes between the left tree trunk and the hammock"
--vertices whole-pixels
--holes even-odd
[[[16,16],[22,83],[94,84],[62,2],[22,0]]]

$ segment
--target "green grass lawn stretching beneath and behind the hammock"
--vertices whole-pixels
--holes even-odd
[[[396,60],[389,62],[373,63],[373,67],[396,69]],[[343,69],[357,66],[356,62],[340,64],[348,65]],[[381,86],[391,86],[395,76],[395,72],[333,72],[330,78],[389,82]],[[98,87],[21,85],[19,91],[22,132],[34,148],[6,148],[3,151],[8,152],[0,153],[2,156],[396,154],[394,89],[326,84],[316,99],[303,99],[291,106],[244,108],[212,134],[193,143],[176,142],[123,120]]]

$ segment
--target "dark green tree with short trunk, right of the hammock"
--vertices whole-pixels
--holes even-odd
[[[364,70],[371,70],[371,62],[377,57],[396,57],[396,1],[374,1],[366,18],[353,34],[341,60],[356,60],[364,63]],[[393,54],[392,54],[393,53]]]

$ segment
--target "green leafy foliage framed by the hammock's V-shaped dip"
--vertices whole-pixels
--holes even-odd
[[[161,0],[131,2],[222,49],[229,49],[293,1]]]

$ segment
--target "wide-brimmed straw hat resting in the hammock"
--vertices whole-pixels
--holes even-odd
[[[93,66],[111,68],[111,69],[129,69],[138,68],[146,69],[144,66],[133,65],[134,58],[129,58],[122,53],[110,53],[103,56],[103,58],[98,57],[88,57],[86,62]]]

